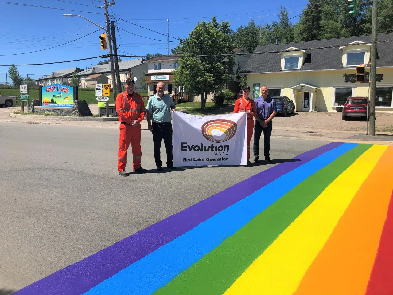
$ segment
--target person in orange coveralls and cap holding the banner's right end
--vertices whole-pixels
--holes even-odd
[[[251,98],[248,98],[250,90],[250,87],[247,85],[243,87],[243,96],[236,100],[235,108],[233,109],[233,113],[247,113],[247,166],[252,165],[250,162],[250,142],[254,130],[253,117],[257,115],[257,109],[255,108],[254,101]]]

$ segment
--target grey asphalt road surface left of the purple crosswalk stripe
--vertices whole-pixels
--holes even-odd
[[[327,143],[272,137],[270,157],[275,164]],[[148,130],[142,131],[141,145],[142,166],[150,173],[121,177],[116,129],[0,124],[0,294],[274,165],[158,172]],[[132,171],[130,162],[127,168]]]

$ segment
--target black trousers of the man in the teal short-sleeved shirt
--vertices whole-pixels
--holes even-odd
[[[152,133],[154,142],[154,160],[157,167],[162,167],[161,160],[161,142],[164,140],[165,149],[167,151],[167,166],[173,166],[172,154],[172,123],[156,123],[152,122]]]

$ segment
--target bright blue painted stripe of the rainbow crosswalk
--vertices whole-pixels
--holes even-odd
[[[358,144],[345,143],[277,178],[248,197],[129,265],[84,294],[151,294],[316,171]]]

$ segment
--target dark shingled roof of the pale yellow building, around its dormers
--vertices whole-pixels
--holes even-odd
[[[393,33],[378,34],[377,41],[393,40]],[[354,41],[364,43],[371,42],[371,35],[324,39],[315,41],[304,41],[294,43],[282,43],[271,45],[260,45],[255,48],[254,52],[274,52],[253,54],[248,59],[244,67],[243,74],[251,73],[271,73],[271,72],[299,72],[309,70],[333,70],[343,68],[342,55],[343,51],[339,47],[349,45]],[[357,42],[356,42],[357,43]],[[312,49],[327,46],[337,46],[334,48]],[[298,70],[281,70],[281,55],[277,52],[284,52],[288,48],[307,49],[307,57],[300,69]],[[377,66],[393,66],[393,42],[382,42],[376,44],[377,48]],[[347,67],[345,67],[347,68]]]

